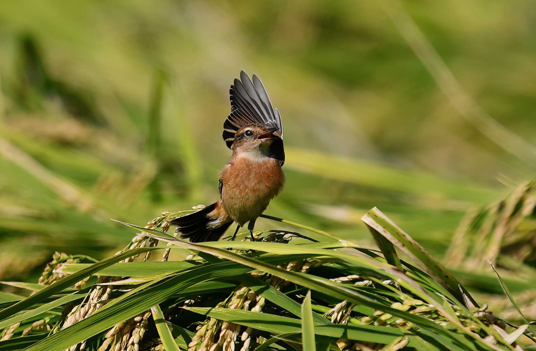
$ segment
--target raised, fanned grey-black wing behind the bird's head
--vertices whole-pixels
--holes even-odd
[[[267,124],[278,129],[278,134],[283,138],[283,125],[278,109],[272,107],[272,103],[264,88],[262,81],[256,74],[253,81],[243,70],[240,79],[235,78],[234,84],[229,89],[231,101],[231,113],[224,122],[222,134],[228,148],[232,148],[235,133],[244,125],[260,123]]]

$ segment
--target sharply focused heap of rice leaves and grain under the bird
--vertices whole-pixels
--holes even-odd
[[[10,282],[29,295],[0,295],[0,350],[522,350],[536,340],[376,208],[363,221],[377,249],[299,223],[255,242],[167,234],[192,211],[123,223],[137,234],[116,255],[57,253],[39,283]]]

